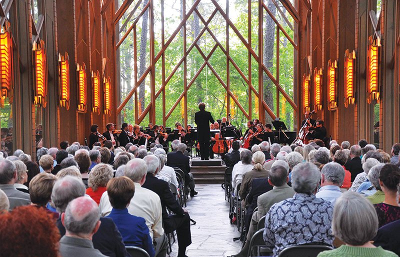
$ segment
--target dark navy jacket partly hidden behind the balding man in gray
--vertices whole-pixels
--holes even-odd
[[[114,221],[108,217],[100,217],[100,227],[93,234],[93,246],[102,254],[112,257],[129,256],[122,241],[122,236],[116,228]],[[61,223],[59,215],[56,223],[61,237],[65,234],[65,227]]]

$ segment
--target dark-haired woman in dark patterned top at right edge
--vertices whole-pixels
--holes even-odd
[[[393,164],[385,164],[379,172],[379,185],[384,192],[384,201],[373,205],[378,215],[379,227],[400,219],[398,183],[400,183],[400,168]]]

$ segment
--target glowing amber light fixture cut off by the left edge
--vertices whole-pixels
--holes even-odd
[[[11,90],[12,74],[12,40],[9,32],[9,22],[5,21],[0,32],[0,84],[1,102],[4,101]]]

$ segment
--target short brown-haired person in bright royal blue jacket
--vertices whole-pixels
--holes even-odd
[[[126,176],[112,178],[107,183],[112,218],[125,245],[138,246],[154,256],[154,248],[144,218],[129,214],[127,206],[134,195],[134,183]]]

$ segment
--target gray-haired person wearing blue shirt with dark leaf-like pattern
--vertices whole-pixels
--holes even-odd
[[[266,213],[263,238],[266,246],[273,248],[274,256],[291,245],[332,245],[333,206],[315,197],[320,176],[319,169],[310,162],[296,165],[291,175],[296,193],[292,198],[275,203]]]

